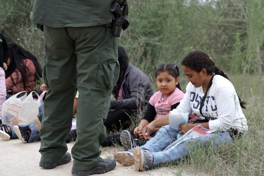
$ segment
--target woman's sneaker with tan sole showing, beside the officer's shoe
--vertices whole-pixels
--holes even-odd
[[[116,152],[114,155],[116,162],[124,166],[131,166],[134,164],[133,149],[125,152]]]

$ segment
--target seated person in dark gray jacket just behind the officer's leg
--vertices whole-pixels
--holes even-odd
[[[144,113],[153,95],[149,78],[137,67],[129,64],[129,58],[123,47],[118,46],[119,79],[112,90],[115,99],[111,99],[110,110],[104,125],[107,130],[127,129],[131,117]]]

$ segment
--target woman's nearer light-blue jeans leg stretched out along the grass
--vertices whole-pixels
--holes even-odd
[[[179,140],[182,139],[176,140],[167,148],[165,148],[164,151],[153,152],[153,164],[151,168],[157,166],[160,163],[179,160],[183,156],[187,156],[190,150],[194,150],[197,143],[205,145],[209,140],[211,140],[213,141],[214,146],[217,147],[220,144],[230,143],[232,141],[232,137],[227,132],[210,133],[194,139],[185,140],[175,146],[175,144],[177,144]]]

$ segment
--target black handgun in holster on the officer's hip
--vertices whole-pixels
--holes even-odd
[[[111,12],[114,14],[114,19],[110,26],[113,28],[113,36],[120,37],[123,20],[128,12],[128,6],[120,7],[119,4],[115,1],[111,5]]]

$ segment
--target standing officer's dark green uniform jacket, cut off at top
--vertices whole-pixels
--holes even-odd
[[[115,0],[36,0],[30,19],[52,28],[89,27],[112,22],[111,4]],[[128,6],[127,0],[116,0]],[[129,26],[127,16],[122,28]]]

